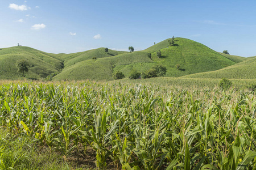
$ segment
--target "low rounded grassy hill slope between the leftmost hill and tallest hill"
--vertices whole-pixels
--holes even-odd
[[[90,57],[91,58],[91,57]],[[54,80],[113,80],[112,73],[121,70],[124,74],[129,74],[127,65],[133,66],[137,63],[150,63],[149,54],[146,52],[124,53],[112,57],[97,57],[98,59],[86,59],[65,67],[65,69]],[[74,58],[75,59],[75,58]],[[128,71],[127,71],[128,70]]]

